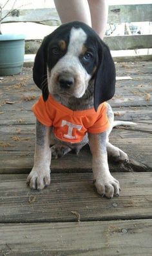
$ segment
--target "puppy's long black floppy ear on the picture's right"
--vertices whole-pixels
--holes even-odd
[[[95,75],[94,107],[113,97],[115,94],[115,64],[109,47],[102,41],[99,45],[99,65]]]

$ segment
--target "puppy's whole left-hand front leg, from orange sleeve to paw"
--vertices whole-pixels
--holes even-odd
[[[50,127],[36,122],[34,165],[27,178],[31,189],[40,190],[50,185],[50,131]]]

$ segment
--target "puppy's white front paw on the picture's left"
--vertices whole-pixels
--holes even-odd
[[[30,185],[31,189],[41,190],[50,185],[50,169],[39,169],[33,167],[28,175],[26,183]]]

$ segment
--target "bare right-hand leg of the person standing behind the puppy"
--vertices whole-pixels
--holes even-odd
[[[108,20],[108,1],[107,0],[88,0],[91,13],[92,28],[104,38],[106,23]]]

